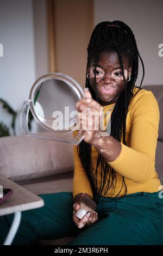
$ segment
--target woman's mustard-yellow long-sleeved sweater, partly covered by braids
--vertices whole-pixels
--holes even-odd
[[[158,174],[155,170],[155,150],[160,118],[159,106],[151,91],[141,89],[137,93],[138,90],[139,89],[137,87],[134,87],[134,96],[128,109],[126,119],[127,145],[124,145],[121,140],[122,150],[120,155],[116,160],[108,162],[116,171],[117,184],[114,194],[112,194],[113,191],[111,193],[108,191],[106,194],[107,197],[115,197],[121,190],[122,176],[124,176],[127,185],[127,194],[136,192],[157,192],[161,185],[160,180],[158,179]],[[103,106],[104,112],[106,113],[106,111],[108,111],[113,105],[114,103]],[[82,167],[82,163],[77,153],[77,146],[75,145],[73,149],[73,198],[78,193],[87,193],[93,197],[90,181],[87,178],[87,174]],[[97,156],[98,151],[92,146],[91,158],[95,167]],[[101,165],[98,167],[97,177],[99,187],[101,179]],[[103,191],[105,191],[105,187]],[[125,191],[126,188],[123,185],[122,191],[118,196],[123,196]]]

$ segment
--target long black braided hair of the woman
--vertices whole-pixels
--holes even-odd
[[[116,26],[108,26],[108,25],[116,25]],[[87,47],[87,70],[90,68],[91,59],[95,59],[95,85],[96,85],[96,68],[98,62],[98,56],[100,52],[117,52],[118,58],[120,60],[120,66],[122,70],[123,80],[124,80],[124,90],[121,92],[114,110],[111,114],[111,132],[110,135],[117,139],[117,141],[121,142],[123,138],[123,144],[126,143],[126,117],[128,113],[128,107],[131,99],[133,98],[133,88],[135,86],[135,82],[138,75],[139,69],[139,58],[141,60],[142,68],[143,68],[143,76],[141,80],[141,84],[143,81],[143,77],[145,75],[145,68],[143,65],[143,61],[140,57],[139,51],[137,50],[136,40],[133,32],[130,27],[128,27],[122,21],[105,21],[99,23],[92,32],[91,39],[89,45]],[[127,81],[124,76],[124,68],[122,61],[122,53],[128,58],[129,64],[132,65],[132,73],[130,81]],[[139,90],[141,89],[141,84]],[[89,78],[86,76],[86,84],[85,87],[88,87],[92,98],[98,102],[97,95],[97,86],[95,92],[90,86]],[[137,92],[139,92],[139,90]],[[104,160],[101,154],[98,153],[96,167],[93,166],[93,162],[91,159],[91,145],[84,141],[80,142],[77,147],[78,155],[80,157],[80,161],[82,162],[83,168],[90,180],[92,192],[93,192],[93,200],[96,203],[99,202],[100,197],[107,196],[106,193],[109,191],[114,194],[117,177],[116,171]],[[101,164],[101,184],[98,187],[97,184],[97,173],[98,167]],[[103,179],[102,179],[103,178]],[[106,183],[106,180],[108,182]],[[114,185],[115,181],[115,185]],[[105,186],[105,190],[104,190]],[[124,180],[124,176],[122,176],[122,186],[117,195],[110,200],[115,200],[115,198],[122,191],[123,186],[125,187],[125,192],[123,196],[127,194],[127,186]],[[111,194],[111,195],[112,195]]]

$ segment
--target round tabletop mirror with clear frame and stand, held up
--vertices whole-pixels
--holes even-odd
[[[22,108],[23,133],[41,138],[40,135],[29,133],[28,113],[30,109],[37,123],[46,131],[53,132],[51,139],[72,144],[80,143],[83,139],[82,131],[78,131],[77,136],[71,141],[67,141],[62,135],[78,130],[76,126],[78,111],[75,105],[82,97],[84,97],[84,90],[70,76],[53,73],[40,77],[34,83],[29,98]],[[59,133],[60,137],[58,137]],[[49,139],[49,136],[42,138]]]

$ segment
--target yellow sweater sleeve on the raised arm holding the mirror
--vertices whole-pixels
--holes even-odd
[[[147,181],[155,168],[160,119],[158,102],[153,93],[143,91],[133,101],[130,147],[121,142],[120,155],[116,160],[108,162],[118,173],[139,183]]]

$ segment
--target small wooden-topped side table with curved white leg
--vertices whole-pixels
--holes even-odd
[[[25,190],[20,185],[17,185],[15,182],[2,175],[0,175],[0,185],[3,188],[11,188],[14,192],[4,203],[2,203],[2,205],[0,205],[0,216],[14,214],[14,220],[10,231],[4,241],[4,245],[11,245],[21,222],[21,212],[40,208],[44,205],[44,202],[42,198]]]

